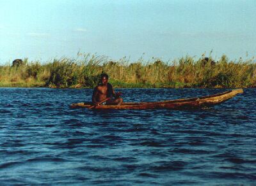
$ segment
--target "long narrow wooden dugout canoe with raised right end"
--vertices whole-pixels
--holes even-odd
[[[122,105],[99,105],[93,109],[120,109],[120,110],[146,110],[146,109],[172,109],[172,110],[183,110],[183,109],[195,109],[195,108],[207,108],[216,104],[223,103],[228,99],[236,96],[236,94],[243,93],[243,89],[229,90],[220,94],[214,94],[210,96],[194,97],[188,99],[175,99],[168,101],[157,101],[157,102],[140,102],[140,103],[122,103]],[[73,103],[70,108],[90,108],[92,107],[91,102],[86,103]]]

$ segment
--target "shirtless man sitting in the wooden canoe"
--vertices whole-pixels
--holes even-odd
[[[108,83],[108,75],[102,74],[100,76],[100,85],[95,87],[95,89],[93,90],[92,103],[95,106],[99,106],[100,102],[104,101],[105,99],[108,99],[107,101],[104,101],[101,104],[121,105],[123,103],[123,99],[120,97],[120,95],[121,92],[115,93],[112,85]]]

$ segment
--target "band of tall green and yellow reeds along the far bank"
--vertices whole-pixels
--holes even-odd
[[[78,54],[76,59],[54,59],[42,64],[28,61],[0,66],[0,87],[95,87],[100,74],[108,73],[114,87],[256,87],[255,59],[229,60],[223,55],[181,57],[175,61],[152,58],[130,62],[125,57]]]

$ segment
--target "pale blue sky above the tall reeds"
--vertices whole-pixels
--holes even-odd
[[[0,0],[0,64],[256,55],[255,0]]]

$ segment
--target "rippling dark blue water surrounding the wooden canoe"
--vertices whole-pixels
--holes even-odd
[[[228,89],[117,89],[125,101]],[[0,89],[0,183],[251,185],[256,89],[206,110],[69,108],[91,89]]]

